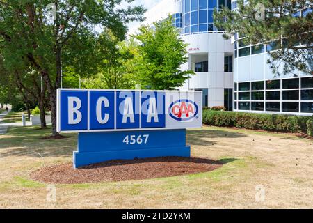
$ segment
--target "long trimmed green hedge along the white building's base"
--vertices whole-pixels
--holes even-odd
[[[203,111],[203,123],[207,125],[267,130],[278,132],[304,132],[313,134],[313,117],[278,114],[252,114],[244,112]]]

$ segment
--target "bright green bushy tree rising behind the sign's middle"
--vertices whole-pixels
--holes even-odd
[[[133,36],[139,54],[134,59],[134,78],[144,89],[177,89],[193,75],[192,70],[180,67],[188,61],[187,46],[179,30],[172,26],[172,18],[141,26]]]

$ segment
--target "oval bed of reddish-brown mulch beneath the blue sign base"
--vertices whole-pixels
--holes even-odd
[[[31,178],[44,183],[98,183],[195,174],[221,166],[221,162],[204,158],[157,157],[112,160],[79,169],[74,169],[72,163],[65,163],[38,169],[31,173]]]

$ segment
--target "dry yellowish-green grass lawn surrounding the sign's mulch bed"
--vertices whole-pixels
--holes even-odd
[[[0,208],[312,208],[312,140],[290,134],[204,127],[187,130],[193,157],[225,164],[200,174],[121,182],[49,185],[36,169],[72,162],[77,134],[41,139],[51,129],[0,135]],[[149,170],[147,170],[149,171]],[[134,173],[136,174],[136,173]],[[47,200],[56,188],[56,202]],[[265,197],[257,201],[257,189]]]

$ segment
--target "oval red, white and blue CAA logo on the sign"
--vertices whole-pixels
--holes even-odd
[[[170,104],[168,114],[177,121],[188,121],[198,114],[198,105],[192,100],[181,99]]]

